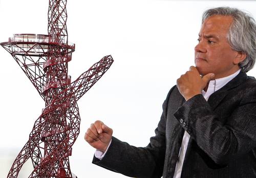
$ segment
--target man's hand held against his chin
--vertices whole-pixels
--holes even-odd
[[[208,73],[202,78],[197,68],[190,66],[189,71],[181,75],[181,77],[177,79],[176,83],[180,94],[188,100],[197,94],[201,94],[208,82],[214,78],[214,73]]]

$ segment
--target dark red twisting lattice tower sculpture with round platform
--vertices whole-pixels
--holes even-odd
[[[45,100],[45,109],[15,159],[9,178],[17,177],[29,158],[34,166],[29,177],[72,177],[69,156],[80,125],[77,101],[113,63],[111,56],[105,56],[71,83],[68,62],[75,44],[68,43],[66,5],[67,0],[49,1],[48,35],[15,34],[0,43]]]

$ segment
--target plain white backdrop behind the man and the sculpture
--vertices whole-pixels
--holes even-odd
[[[90,123],[102,120],[113,135],[146,146],[160,119],[162,103],[176,79],[194,65],[201,15],[230,6],[256,17],[255,1],[68,1],[69,41],[76,44],[69,74],[80,73],[112,55],[108,72],[79,101],[80,135],[71,170],[78,177],[125,177],[91,163],[95,149],[83,140]],[[48,1],[0,0],[0,42],[15,33],[47,34]],[[0,177],[6,177],[44,107],[14,59],[0,48]],[[256,69],[248,72],[256,76]],[[19,177],[28,177],[30,161]]]

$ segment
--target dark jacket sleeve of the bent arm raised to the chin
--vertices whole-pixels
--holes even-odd
[[[191,138],[217,164],[226,165],[231,157],[246,154],[256,146],[256,92],[241,98],[225,123],[201,94],[188,99],[174,114]]]

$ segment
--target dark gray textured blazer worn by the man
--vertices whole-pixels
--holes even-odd
[[[113,137],[93,163],[133,177],[173,177],[184,130],[190,135],[182,178],[256,177],[256,80],[240,72],[208,101],[185,101],[176,86],[163,103],[156,135],[146,147]]]

